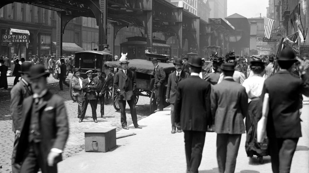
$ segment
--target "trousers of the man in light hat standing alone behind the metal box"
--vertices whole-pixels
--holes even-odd
[[[122,127],[126,127],[127,126],[127,117],[125,115],[125,105],[126,105],[126,101],[129,104],[130,107],[130,113],[131,113],[131,117],[132,117],[132,121],[134,124],[134,127],[137,127],[137,115],[136,115],[136,109],[135,109],[135,103],[134,100],[118,100],[119,102],[119,107],[120,107],[120,122],[121,122],[121,126]]]

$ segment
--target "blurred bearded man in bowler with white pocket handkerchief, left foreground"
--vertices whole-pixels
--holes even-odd
[[[23,100],[23,121],[17,145],[20,172],[57,173],[57,163],[69,135],[66,107],[61,97],[47,90],[44,66],[30,68],[33,95]]]

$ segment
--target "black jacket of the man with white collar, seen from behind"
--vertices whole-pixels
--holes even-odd
[[[175,123],[182,130],[206,131],[212,124],[210,83],[199,76],[189,76],[178,83],[175,100]]]

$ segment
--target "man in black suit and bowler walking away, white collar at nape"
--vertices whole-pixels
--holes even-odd
[[[175,100],[175,123],[184,131],[187,172],[198,172],[205,143],[206,130],[212,125],[210,83],[199,77],[202,58],[193,57],[191,76],[178,83]]]

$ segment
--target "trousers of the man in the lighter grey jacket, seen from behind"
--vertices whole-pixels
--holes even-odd
[[[217,134],[217,161],[220,173],[234,173],[241,134]]]

